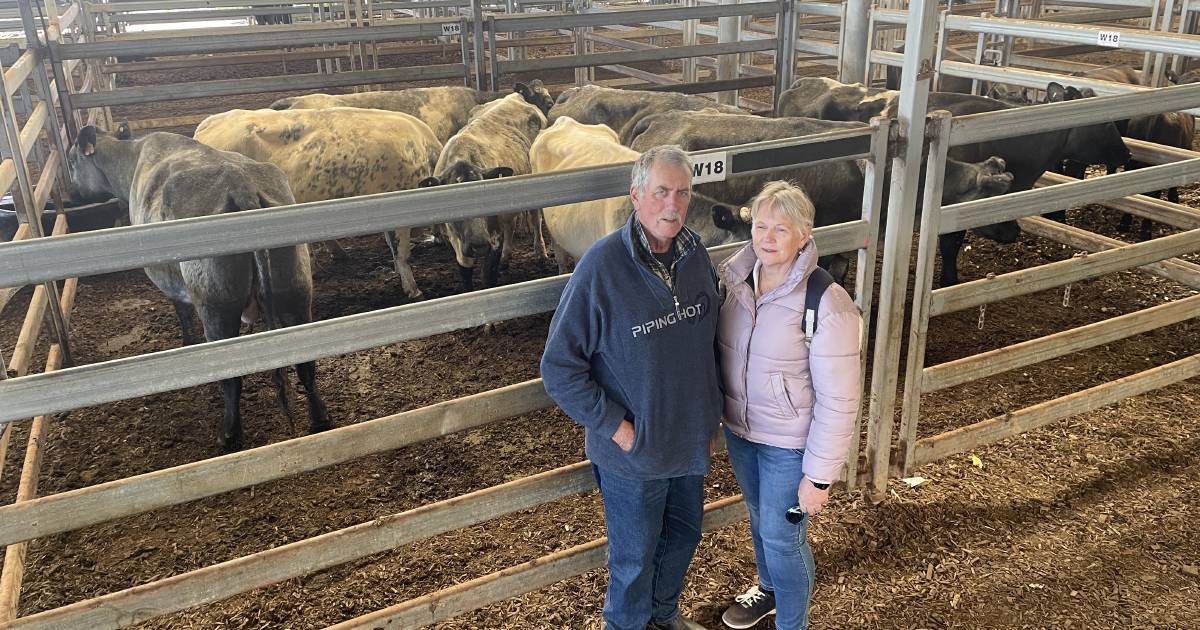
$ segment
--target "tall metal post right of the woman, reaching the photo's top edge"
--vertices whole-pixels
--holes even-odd
[[[871,368],[870,419],[866,432],[866,460],[871,467],[866,496],[870,500],[882,500],[887,492],[890,467],[900,336],[908,288],[913,210],[925,139],[929,79],[934,67],[936,19],[937,0],[913,0],[908,6],[904,78],[900,83],[900,108],[896,116],[900,139],[896,157],[892,162],[880,314],[875,329],[875,362]]]

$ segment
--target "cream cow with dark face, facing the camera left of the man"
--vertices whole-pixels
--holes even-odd
[[[529,145],[546,128],[546,115],[521,94],[510,94],[472,110],[470,120],[442,149],[434,175],[421,187],[529,174]],[[458,263],[463,290],[472,290],[475,258],[482,259],[484,287],[494,287],[510,256],[516,215],[475,217],[444,226]],[[540,222],[536,235],[541,235]]]

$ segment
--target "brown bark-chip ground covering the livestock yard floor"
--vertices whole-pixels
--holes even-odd
[[[230,72],[223,70],[222,72]],[[248,72],[239,70],[238,72]],[[222,74],[222,77],[235,74]],[[244,76],[244,74],[238,74]],[[174,77],[174,80],[193,77]],[[216,77],[214,77],[216,78]],[[564,77],[556,77],[560,79]],[[569,77],[565,78],[569,80]],[[254,107],[275,95],[224,98],[205,110]],[[133,118],[166,115],[145,109]],[[173,113],[187,113],[182,106]],[[1184,193],[1198,205],[1196,193]],[[1074,224],[1117,238],[1118,216],[1072,212]],[[1159,227],[1158,235],[1164,234]],[[402,302],[379,236],[346,241],[350,258],[318,250],[319,319]],[[1068,258],[1073,251],[1024,235],[1016,245],[974,236],[966,280]],[[413,266],[428,298],[455,292],[448,248],[421,242]],[[528,235],[504,282],[554,274]],[[1195,292],[1124,272],[1061,290],[935,319],[929,364],[1178,299]],[[28,289],[24,293],[28,300]],[[16,304],[23,304],[17,300]],[[0,318],[0,341],[17,338],[23,313]],[[504,322],[491,335],[466,330],[319,362],[332,419],[359,422],[536,378],[548,316]],[[140,271],[83,278],[73,319],[79,362],[176,347],[169,302]],[[1121,343],[1008,372],[923,400],[920,433],[934,434],[1085,389],[1198,352],[1195,320]],[[43,343],[44,347],[44,343]],[[41,358],[44,361],[44,356]],[[247,377],[246,440],[294,437],[263,374]],[[1016,439],[894,481],[866,506],[838,496],[816,516],[818,578],[814,628],[1194,628],[1200,619],[1200,383],[1196,379],[1052,424]],[[43,494],[203,460],[217,454],[221,396],[215,385],[62,414],[42,468]],[[4,462],[0,498],[14,496],[25,428]],[[36,541],[22,614],[29,614],[409,510],[582,460],[582,437],[547,410],[254,488]],[[737,493],[724,456],[707,481],[709,500]],[[500,568],[604,535],[595,492],[450,535],[380,553],[144,628],[323,628]],[[445,629],[596,628],[606,576],[589,572],[439,625]],[[703,539],[683,600],[710,628],[728,599],[754,580],[745,523]],[[760,628],[770,628],[769,623]]]

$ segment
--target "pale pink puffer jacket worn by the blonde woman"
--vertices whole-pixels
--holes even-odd
[[[755,299],[748,244],[721,264],[726,289],[718,340],[725,425],[750,442],[804,449],[804,474],[835,481],[850,450],[862,391],[858,307],[838,284],[821,298],[811,347],[804,343],[804,288],[816,245],[800,251],[787,280]]]

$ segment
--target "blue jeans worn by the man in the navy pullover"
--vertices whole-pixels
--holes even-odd
[[[606,630],[646,630],[679,614],[679,594],[700,544],[704,478],[638,481],[593,466],[608,524]]]

